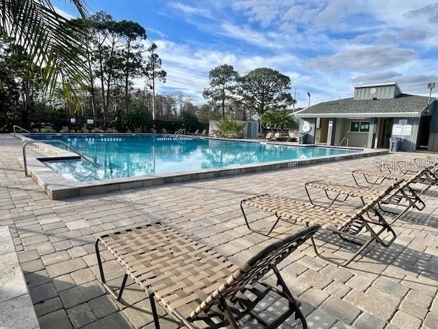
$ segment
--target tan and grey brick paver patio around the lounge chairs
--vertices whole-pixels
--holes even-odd
[[[18,166],[21,145],[0,136],[0,226],[14,234],[41,328],[154,328],[140,287],[131,282],[123,303],[116,303],[99,283],[94,241],[104,232],[161,221],[238,265],[272,241],[246,228],[241,199],[272,193],[307,201],[303,184],[309,180],[352,182],[350,172],[372,169],[374,160],[426,157],[398,153],[54,201]],[[29,154],[35,151],[29,148]],[[424,200],[425,210],[407,212],[394,223],[398,237],[389,248],[373,245],[348,268],[316,258],[309,244],[281,264],[309,328],[438,328],[438,188]],[[258,210],[250,218],[256,225],[272,219]],[[300,228],[282,223],[276,233]],[[341,249],[323,231],[317,241],[338,256],[350,248]],[[110,254],[103,256],[107,280],[120,284],[123,270]],[[267,314],[281,307],[271,302]],[[171,319],[161,321],[162,328],[177,328]]]

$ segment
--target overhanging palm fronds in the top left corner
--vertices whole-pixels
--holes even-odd
[[[83,0],[70,2],[84,19],[88,17]],[[51,0],[0,0],[0,33],[23,47],[29,68],[43,68],[40,74],[48,90],[53,91],[61,82],[64,96],[77,96],[75,86],[81,85],[86,69],[81,56],[86,38],[56,12]]]

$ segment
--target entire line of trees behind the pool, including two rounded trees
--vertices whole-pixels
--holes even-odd
[[[240,75],[228,64],[209,72],[209,86],[203,92],[206,103],[201,106],[180,91],[155,95],[157,82],[166,82],[166,71],[157,45],[146,42],[146,30],[139,23],[116,21],[106,12],[97,12],[86,21],[66,21],[63,28],[84,45],[76,54],[84,63],[77,68],[80,74],[70,72],[80,79],[70,80],[75,98],[65,83],[49,90],[44,81],[49,69],[39,66],[25,47],[0,34],[1,130],[14,124],[62,127],[70,125],[71,117],[76,124],[93,119],[95,126],[118,131],[144,130],[158,123],[170,127],[164,121],[179,121],[172,127],[201,127],[200,122],[209,120],[259,119],[267,111],[283,110],[287,115],[286,109],[295,103],[286,75],[268,68]]]

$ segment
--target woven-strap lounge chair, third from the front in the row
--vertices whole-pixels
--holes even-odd
[[[421,173],[417,173],[417,175],[421,175]],[[411,182],[415,181],[417,177],[414,175],[410,181],[407,181],[405,184],[402,184],[400,188],[394,188],[391,191],[387,191],[387,195],[381,199],[380,202],[377,202],[377,206],[383,212],[388,212],[392,215],[396,215],[394,219],[392,219],[391,223],[394,223],[399,217],[401,217],[405,212],[407,212],[411,208],[416,208],[417,210],[423,210],[426,206],[423,200],[419,195],[413,190],[410,186]],[[315,180],[313,182],[305,183],[305,190],[307,193],[307,197],[309,197],[309,202],[311,204],[315,204],[311,195],[309,193],[309,189],[314,188],[318,190],[324,191],[327,199],[331,200],[331,203],[328,208],[330,208],[335,202],[341,201],[346,202],[349,197],[357,197],[361,199],[363,205],[366,204],[365,200],[372,200],[378,195],[385,193],[385,188],[376,188],[374,187],[363,187],[363,186],[351,186],[346,184],[339,184],[337,182],[326,182],[324,180]],[[333,193],[331,197],[329,193]],[[386,208],[382,208],[382,205],[394,205],[394,206],[402,206],[403,210],[401,212],[393,212]]]

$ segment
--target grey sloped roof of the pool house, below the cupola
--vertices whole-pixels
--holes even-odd
[[[421,117],[427,103],[428,97],[407,94],[394,99],[345,98],[316,104],[300,111],[296,117]]]

